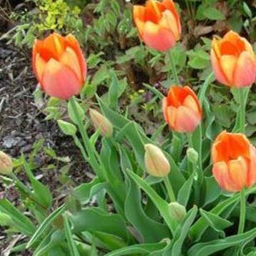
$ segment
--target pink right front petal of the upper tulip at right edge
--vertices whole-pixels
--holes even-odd
[[[256,79],[256,59],[250,52],[243,51],[235,68],[234,84],[236,87],[250,86]]]

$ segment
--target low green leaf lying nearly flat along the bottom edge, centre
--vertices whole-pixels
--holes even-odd
[[[157,242],[154,244],[140,244],[131,245],[128,247],[121,248],[114,252],[109,252],[105,256],[122,256],[122,255],[136,255],[136,254],[149,254],[150,252],[164,249],[167,245],[167,240],[164,242]]]

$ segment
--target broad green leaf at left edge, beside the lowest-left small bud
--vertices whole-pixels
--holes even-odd
[[[13,225],[24,235],[31,237],[31,235],[34,234],[36,227],[34,226],[33,222],[31,222],[28,217],[26,217],[23,213],[16,209],[16,207],[14,207],[14,205],[12,205],[9,200],[0,200],[0,214],[2,214],[2,218],[4,217],[3,214],[6,217],[8,216],[8,219],[5,218],[5,221],[10,221],[10,225]],[[0,223],[1,221],[4,220],[0,220]]]

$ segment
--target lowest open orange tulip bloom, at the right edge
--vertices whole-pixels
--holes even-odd
[[[256,182],[256,149],[244,134],[222,132],[212,146],[212,174],[229,192]]]

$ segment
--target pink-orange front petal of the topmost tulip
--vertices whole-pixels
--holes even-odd
[[[172,31],[161,28],[158,24],[147,21],[144,25],[142,39],[149,47],[158,51],[167,51],[175,44]]]

